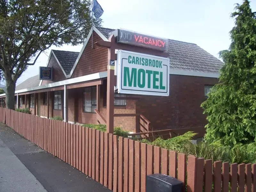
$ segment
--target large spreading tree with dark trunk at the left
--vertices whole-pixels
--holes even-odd
[[[52,45],[84,42],[92,26],[90,7],[90,0],[0,1],[0,73],[7,108],[14,109],[17,79],[41,52]],[[95,26],[100,23],[94,19]]]

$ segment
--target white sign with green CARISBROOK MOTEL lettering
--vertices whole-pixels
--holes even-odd
[[[118,93],[169,96],[170,59],[119,50]]]

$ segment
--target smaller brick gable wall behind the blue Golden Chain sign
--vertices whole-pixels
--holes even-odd
[[[57,82],[57,81],[62,81],[62,80],[66,79],[65,75],[63,74],[63,72],[62,72],[59,64],[57,63],[57,60],[53,56],[53,54],[49,60],[47,67],[53,67],[53,71],[52,71],[53,81],[43,80],[42,85]]]

